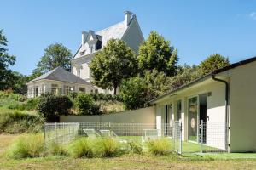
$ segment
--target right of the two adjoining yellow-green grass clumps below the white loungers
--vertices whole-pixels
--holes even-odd
[[[113,138],[97,139],[95,153],[101,157],[113,157],[119,154],[120,144]]]

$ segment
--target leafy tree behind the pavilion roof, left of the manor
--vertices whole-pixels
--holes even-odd
[[[34,77],[38,77],[45,72],[61,66],[63,69],[70,70],[71,51],[61,43],[54,43],[44,49],[44,55],[38,62],[37,68],[33,71]]]

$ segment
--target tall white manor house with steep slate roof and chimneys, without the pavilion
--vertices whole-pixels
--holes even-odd
[[[94,55],[100,51],[111,38],[121,39],[136,53],[141,42],[143,42],[143,32],[137,21],[135,14],[125,11],[125,20],[105,28],[101,31],[83,31],[82,42],[71,60],[72,73],[81,77],[87,82],[91,82],[90,62]],[[97,87],[96,87],[97,88]],[[97,88],[99,93],[110,93],[113,91]]]

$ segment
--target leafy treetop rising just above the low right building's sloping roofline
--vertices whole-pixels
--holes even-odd
[[[227,65],[230,65],[229,58],[226,58],[220,54],[212,54],[208,56],[207,59],[201,62],[200,72],[202,75],[206,75],[211,71],[214,71]]]

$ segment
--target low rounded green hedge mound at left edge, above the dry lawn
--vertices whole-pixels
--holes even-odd
[[[44,119],[28,111],[0,109],[0,133],[38,133]]]

